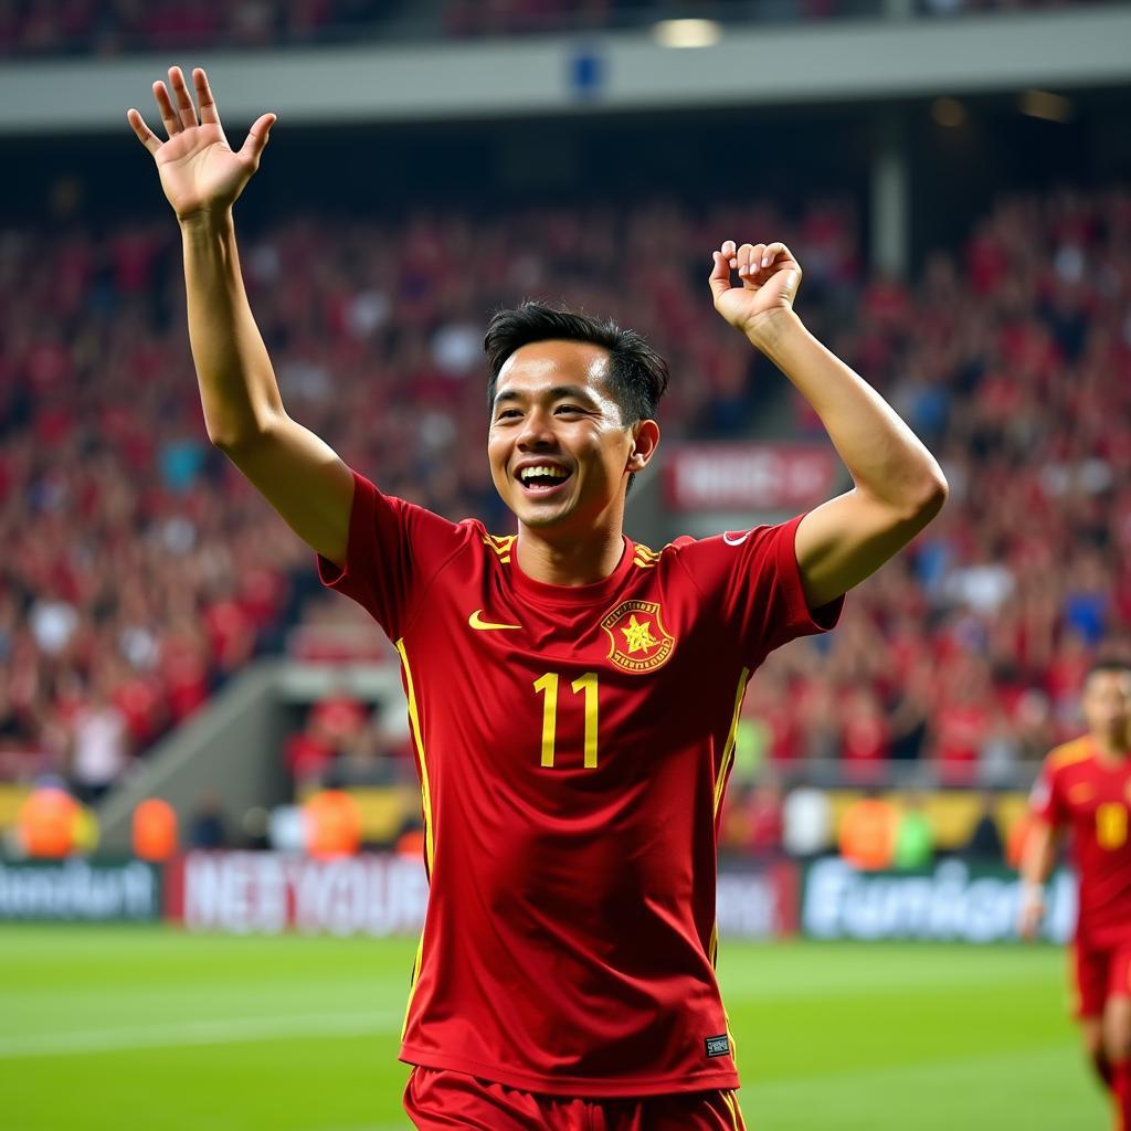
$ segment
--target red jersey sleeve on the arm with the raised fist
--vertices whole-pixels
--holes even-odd
[[[840,619],[843,596],[820,608],[805,601],[794,545],[804,517],[675,542],[677,560],[752,664],[796,637],[827,632]]]

